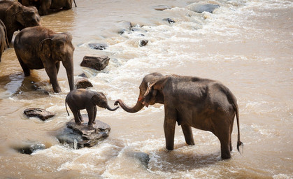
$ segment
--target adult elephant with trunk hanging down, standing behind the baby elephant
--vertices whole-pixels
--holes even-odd
[[[66,69],[70,90],[73,90],[74,47],[71,41],[71,34],[57,34],[45,27],[28,27],[20,31],[15,36],[14,48],[24,76],[30,76],[31,69],[45,68],[54,92],[61,92],[57,81],[61,61]]]

